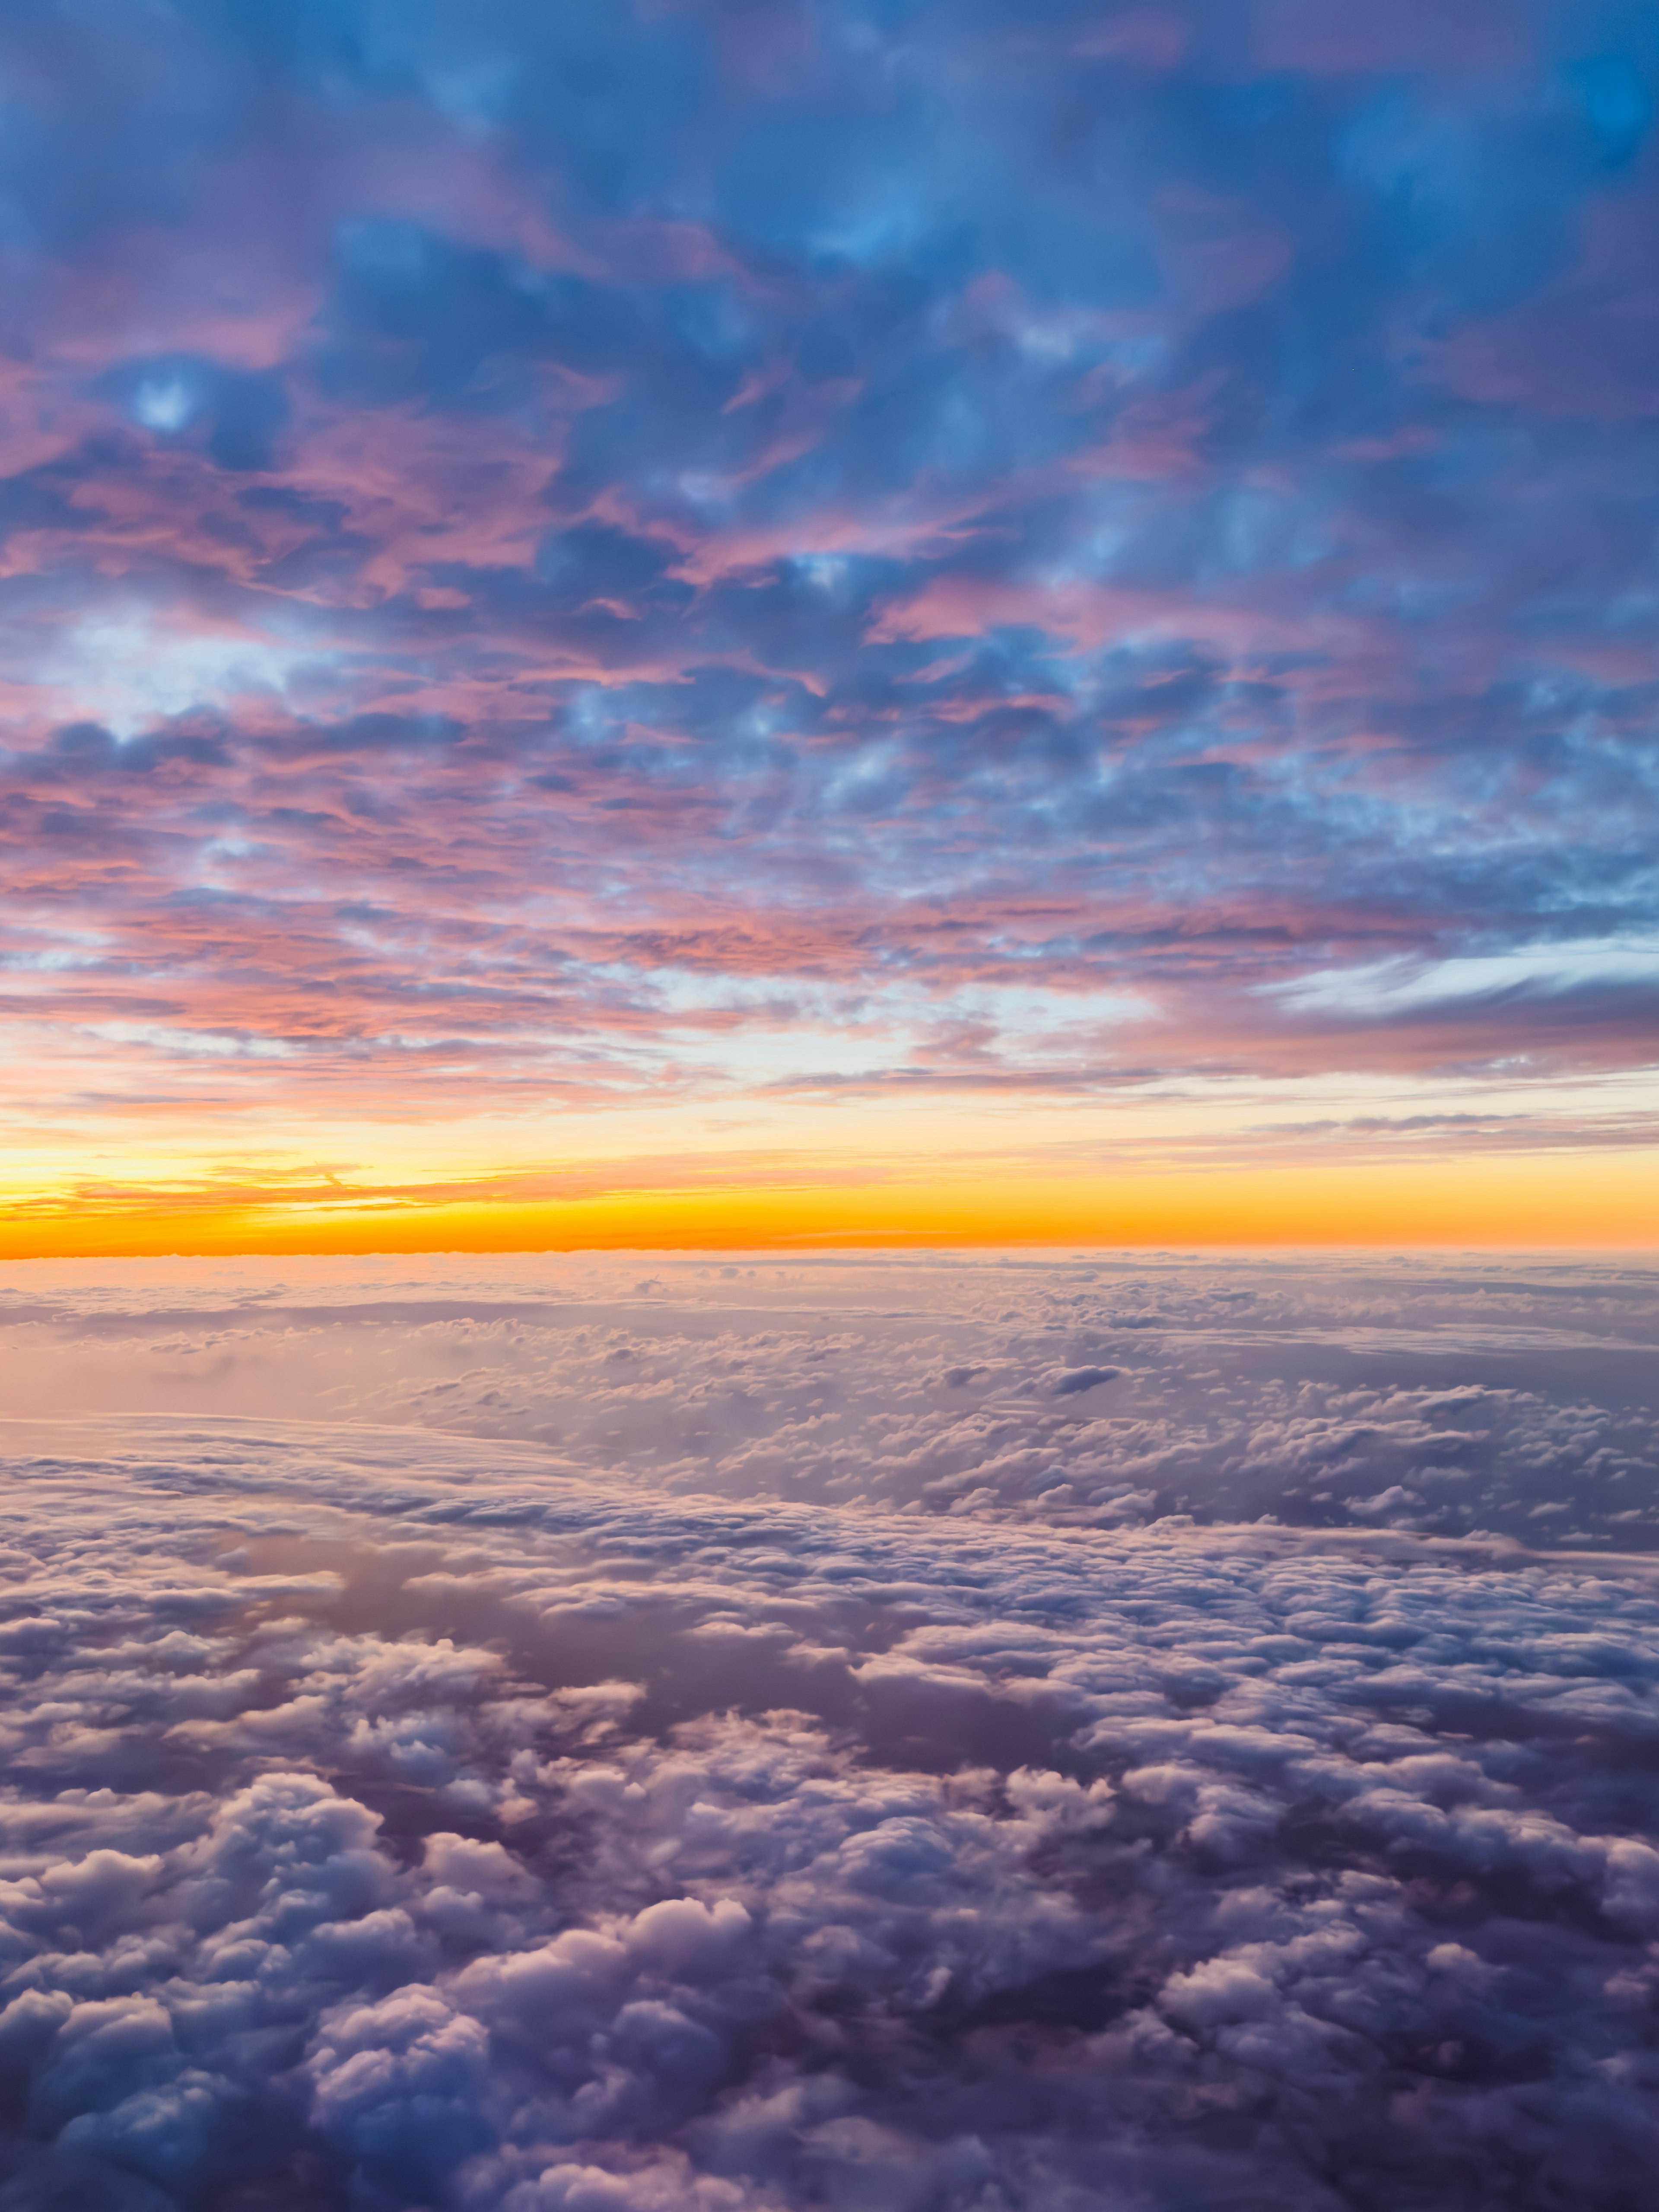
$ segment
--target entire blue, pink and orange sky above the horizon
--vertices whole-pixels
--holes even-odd
[[[1659,1243],[1635,0],[11,0],[0,1252]]]

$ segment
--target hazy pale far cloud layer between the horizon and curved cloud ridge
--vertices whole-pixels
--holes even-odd
[[[13,1416],[542,1444],[728,1500],[1659,1546],[1650,1263],[1088,1254],[13,1270]]]

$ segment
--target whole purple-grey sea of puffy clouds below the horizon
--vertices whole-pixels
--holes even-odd
[[[1652,1270],[9,1290],[7,2212],[1644,2201]]]

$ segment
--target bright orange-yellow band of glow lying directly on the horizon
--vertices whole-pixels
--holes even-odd
[[[453,1190],[453,1186],[447,1186]],[[1659,1248],[1659,1155],[1252,1166],[1168,1175],[628,1188],[571,1199],[0,1206],[0,1259],[933,1245]]]

